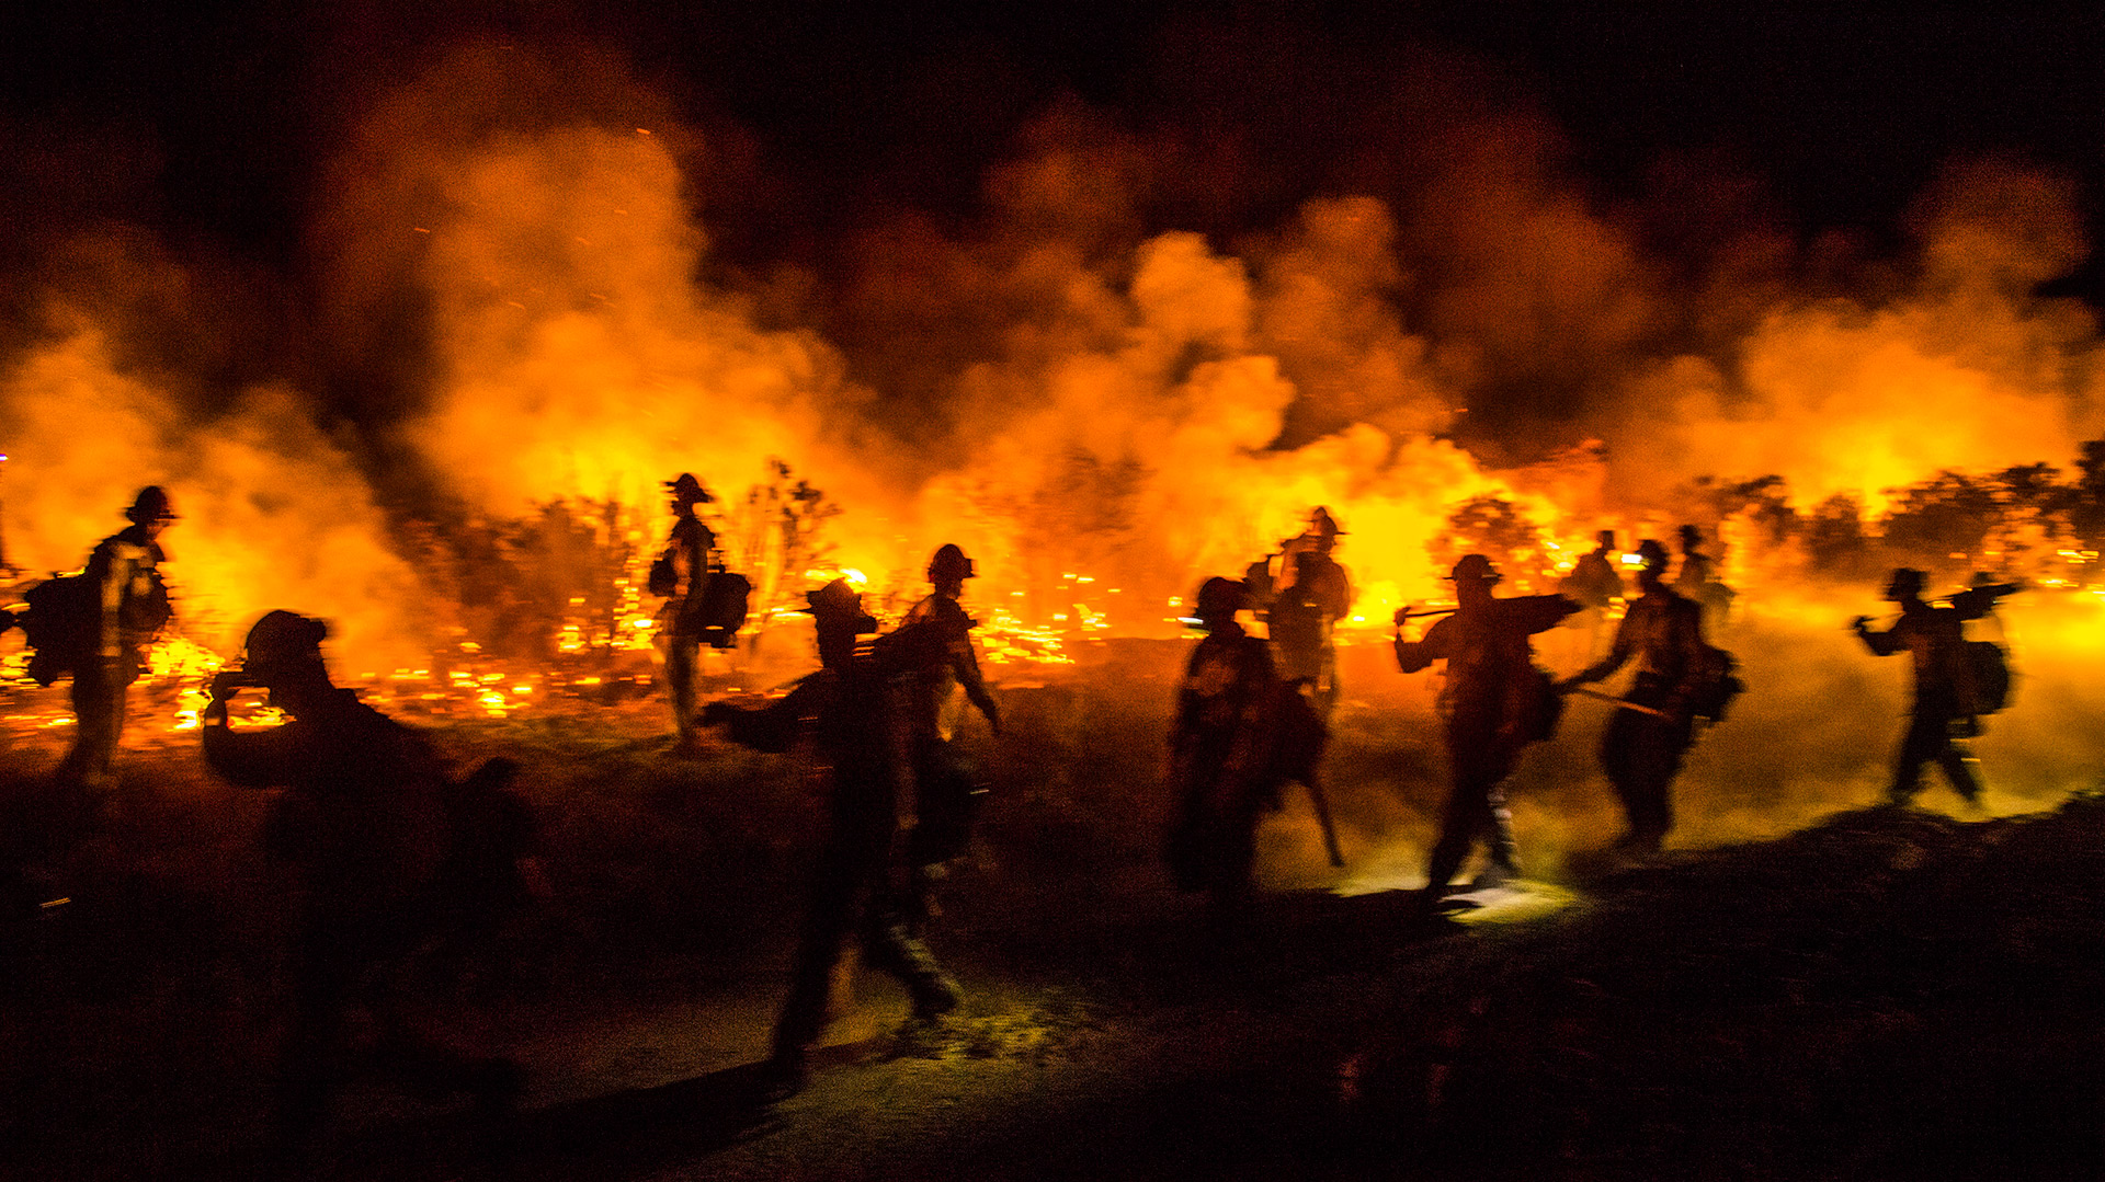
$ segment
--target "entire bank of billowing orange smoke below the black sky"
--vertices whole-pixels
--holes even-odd
[[[737,496],[775,456],[842,505],[838,559],[880,583],[958,541],[975,595],[1038,618],[1092,595],[1130,631],[1326,505],[1379,620],[1444,589],[1436,551],[1474,498],[1570,553],[1598,526],[1665,536],[1699,477],[1876,513],[2099,433],[2092,315],[2038,294],[2088,250],[2046,170],[1958,162],[1909,244],[1873,252],[1800,242],[1756,181],[1701,164],[1610,202],[1541,111],[1398,93],[1383,120],[1408,143],[1360,137],[1305,183],[1261,139],[1061,99],[970,215],[874,202],[756,261],[775,210],[754,193],[781,179],[737,128],[682,124],[604,50],[469,42],[347,116],[312,307],[282,318],[312,324],[299,364],[223,364],[229,322],[299,303],[229,269],[120,248],[99,276],[177,294],[46,284],[0,387],[8,557],[74,566],[164,482],[185,627],[225,648],[301,608],[387,669],[442,639],[402,517],[655,509],[678,471]],[[185,322],[219,360],[171,341],[171,301],[232,309]],[[1783,686],[1815,688],[1762,692]],[[1785,736],[1810,698],[1775,700],[1751,732]],[[1777,808],[1762,791],[1745,808]]]

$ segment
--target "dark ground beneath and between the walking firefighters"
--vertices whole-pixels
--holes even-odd
[[[1760,639],[1741,644],[1756,675],[1815,644]],[[1989,812],[1869,808],[1894,684],[1846,686],[1850,717],[1829,702],[1825,726],[1749,696],[1690,761],[1684,848],[1606,867],[1587,854],[1612,833],[1591,770],[1600,717],[1575,707],[1516,780],[1522,856],[1545,881],[1408,932],[1398,888],[1417,885],[1442,761],[1423,686],[1360,646],[1328,759],[1351,864],[1322,867],[1290,795],[1263,833],[1274,890],[1223,946],[1158,867],[1181,650],[1124,641],[1010,673],[1008,732],[968,732],[998,787],[933,932],[964,1010],[909,1024],[890,982],[857,978],[810,1087],[773,1108],[751,1100],[754,1064],[817,837],[804,761],[669,759],[655,700],[425,719],[463,766],[526,763],[558,879],[558,902],[453,999],[528,1066],[524,1115],[493,1150],[457,1102],[366,1079],[312,1171],[1981,1178],[2105,1163],[2105,803],[2071,795],[2069,768],[1989,745]],[[1998,724],[2027,745],[2042,717]],[[265,799],[210,778],[194,736],[135,728],[91,816],[40,778],[59,734],[17,726],[8,742],[25,894],[72,900],[6,928],[13,1171],[253,1174],[284,1022]]]

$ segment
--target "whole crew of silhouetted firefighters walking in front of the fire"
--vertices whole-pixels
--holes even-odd
[[[962,694],[991,734],[1002,732],[1000,705],[979,673],[977,620],[960,604],[979,572],[960,547],[939,547],[926,566],[928,595],[888,633],[844,580],[827,583],[806,595],[817,673],[766,709],[697,709],[699,650],[735,641],[751,585],[726,570],[716,534],[697,513],[714,503],[707,488],[682,473],[665,490],[674,519],[646,583],[665,602],[659,633],[674,755],[701,753],[711,728],[768,753],[789,751],[808,734],[829,770],[825,839],[764,1073],[768,1092],[783,1096],[804,1083],[850,940],[867,965],[901,980],[916,1020],[960,1005],[960,986],[933,955],[928,928],[945,864],[966,852],[985,791],[985,776],[951,740],[949,700]],[[72,679],[78,728],[55,776],[91,803],[109,791],[141,652],[171,620],[160,564],[173,559],[162,534],[179,515],[166,490],[149,486],[124,517],[131,524],[93,549],[82,574],[51,578],[29,589],[23,610],[0,612],[0,631],[23,629],[36,681]],[[1191,648],[1172,702],[1164,852],[1175,883],[1204,894],[1223,936],[1250,921],[1255,833],[1288,784],[1309,791],[1330,860],[1343,864],[1318,776],[1339,700],[1335,627],[1351,604],[1349,572],[1335,557],[1343,536],[1337,517],[1318,507],[1301,534],[1250,564],[1244,578],[1208,578],[1194,595],[1196,627],[1206,635]],[[1671,585],[1667,547],[1638,545],[1638,595],[1627,599],[1606,650],[1598,644],[1604,608],[1623,595],[1610,532],[1600,534],[1600,547],[1560,593],[1501,597],[1497,566],[1469,553],[1448,570],[1455,608],[1398,608],[1398,669],[1444,665],[1440,717],[1450,776],[1427,881],[1412,896],[1415,919],[1438,921],[1478,845],[1484,856],[1474,888],[1520,877],[1505,780],[1530,742],[1556,732],[1568,694],[1617,705],[1600,747],[1627,818],[1617,850],[1642,858],[1661,848],[1673,824],[1673,776],[1697,724],[1722,719],[1741,692],[1730,654],[1707,639],[1707,623],[1730,604],[1730,591],[1713,578],[1699,543],[1699,530],[1680,532],[1682,564]],[[1964,623],[1991,614],[2017,587],[1977,580],[1945,606],[1926,602],[1924,589],[1924,572],[1894,570],[1886,599],[1899,606],[1897,623],[1876,631],[1859,616],[1852,625],[1873,654],[1907,652],[1913,665],[1913,709],[1888,799],[1911,801],[1924,763],[1937,763],[1972,801],[1981,780],[1966,740],[2002,709],[2010,679],[2002,648],[1966,639]],[[1267,623],[1267,637],[1244,629],[1246,612]],[[1532,637],[1579,612],[1587,614],[1591,663],[1556,679],[1535,665]],[[1415,620],[1427,618],[1417,633]],[[324,620],[265,614],[242,658],[213,677],[200,728],[204,759],[217,774],[242,787],[282,789],[265,845],[305,881],[293,923],[297,1012],[278,1079],[278,1132],[288,1144],[314,1134],[347,1075],[347,1012],[358,1001],[381,1026],[373,1054],[413,1087],[465,1092],[478,1113],[505,1110],[520,1089],[516,1064],[415,1026],[406,982],[429,982],[434,949],[467,946],[507,911],[547,896],[533,816],[509,789],[518,766],[490,759],[455,778],[423,736],[330,681],[320,650],[326,633]],[[1623,667],[1633,669],[1633,681],[1621,694],[1587,688]],[[242,688],[265,690],[288,721],[229,730],[227,702]]]

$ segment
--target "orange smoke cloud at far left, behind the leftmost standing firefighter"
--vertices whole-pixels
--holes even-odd
[[[78,254],[74,254],[78,259]],[[114,248],[112,278],[181,284],[160,257]],[[269,606],[324,614],[362,669],[417,663],[421,589],[387,545],[356,461],[284,387],[221,395],[158,370],[137,324],[53,303],[46,334],[0,372],[6,435],[6,557],[29,572],[76,570],[124,528],[145,484],[168,488],[181,522],[164,536],[181,635],[234,652]]]

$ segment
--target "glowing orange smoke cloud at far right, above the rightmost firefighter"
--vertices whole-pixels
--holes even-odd
[[[1661,358],[1600,423],[1633,498],[1697,475],[1783,475],[1812,505],[1939,469],[2067,463],[2094,437],[2088,309],[2038,299],[2084,250],[2076,196],[2004,164],[1953,168],[1886,299],[1787,299],[1724,358]],[[1650,488],[1648,488],[1650,484]]]

